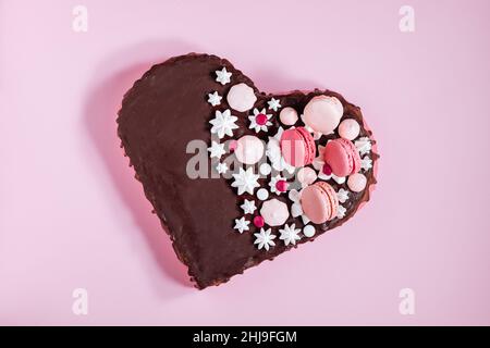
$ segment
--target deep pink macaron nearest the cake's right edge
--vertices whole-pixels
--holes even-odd
[[[336,176],[347,176],[360,170],[360,156],[351,140],[339,138],[327,144],[323,160]]]

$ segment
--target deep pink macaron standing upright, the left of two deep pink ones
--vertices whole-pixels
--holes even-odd
[[[304,127],[286,129],[281,136],[281,152],[291,165],[307,165],[315,159],[315,140]]]

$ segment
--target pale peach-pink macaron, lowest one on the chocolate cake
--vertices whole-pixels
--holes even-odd
[[[315,224],[322,224],[336,216],[339,199],[332,186],[326,182],[317,182],[303,189],[302,209]]]

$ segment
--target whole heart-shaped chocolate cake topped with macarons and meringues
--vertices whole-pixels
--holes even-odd
[[[198,288],[342,225],[376,184],[379,156],[358,107],[330,90],[260,92],[216,55],[152,66],[118,124]]]

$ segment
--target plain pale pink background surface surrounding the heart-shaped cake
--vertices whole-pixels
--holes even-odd
[[[0,0],[1,324],[490,324],[490,2]],[[267,91],[329,87],[381,151],[348,224],[198,291],[115,136],[152,63],[229,58]],[[88,315],[72,291],[89,294]],[[415,315],[399,291],[416,293]]]

